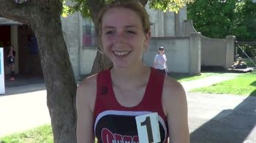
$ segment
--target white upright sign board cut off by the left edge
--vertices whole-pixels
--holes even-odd
[[[4,48],[0,47],[0,94],[4,93]]]

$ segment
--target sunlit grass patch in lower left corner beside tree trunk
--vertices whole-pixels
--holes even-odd
[[[50,125],[42,125],[29,131],[23,131],[0,138],[0,143],[53,143]]]

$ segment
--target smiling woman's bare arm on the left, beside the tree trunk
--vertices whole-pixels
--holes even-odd
[[[94,102],[96,78],[89,77],[78,86],[76,108],[78,113],[77,142],[94,142]]]

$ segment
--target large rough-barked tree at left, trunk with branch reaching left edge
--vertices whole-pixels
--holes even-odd
[[[1,17],[27,24],[37,36],[54,142],[76,142],[77,86],[61,29],[61,0],[0,3]]]

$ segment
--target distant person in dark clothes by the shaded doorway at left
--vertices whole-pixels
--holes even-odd
[[[16,53],[15,53],[14,47],[11,45],[7,55],[7,63],[11,69],[10,81],[15,81],[15,55]]]

